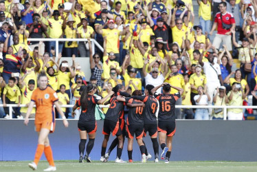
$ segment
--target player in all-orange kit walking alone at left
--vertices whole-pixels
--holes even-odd
[[[52,155],[52,149],[49,144],[48,134],[54,132],[55,127],[55,114],[54,105],[58,110],[60,116],[63,118],[63,125],[68,127],[69,123],[63,114],[62,109],[58,104],[58,96],[54,89],[47,86],[47,76],[44,72],[38,75],[38,88],[34,90],[30,105],[27,109],[27,114],[24,120],[24,125],[29,122],[29,116],[32,111],[33,105],[36,104],[36,116],[35,116],[35,130],[38,132],[38,146],[35,153],[34,162],[29,166],[33,170],[36,170],[38,162],[43,152],[49,162],[49,167],[44,171],[56,171],[54,165],[54,158]]]

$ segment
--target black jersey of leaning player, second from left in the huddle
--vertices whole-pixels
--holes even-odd
[[[117,96],[113,96],[110,100],[110,106],[104,119],[117,122],[119,118],[124,118],[124,105],[124,102],[117,100]]]

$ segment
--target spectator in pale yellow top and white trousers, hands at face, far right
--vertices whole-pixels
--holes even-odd
[[[230,106],[243,106],[243,100],[247,96],[240,83],[234,82],[232,90],[227,94]],[[243,120],[243,109],[227,109],[228,120]]]

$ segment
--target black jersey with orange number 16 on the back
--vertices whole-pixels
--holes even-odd
[[[172,120],[175,121],[175,103],[180,98],[180,93],[176,94],[155,94],[157,100],[159,100],[159,121]]]

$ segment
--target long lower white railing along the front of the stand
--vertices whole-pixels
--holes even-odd
[[[3,105],[0,105],[0,107],[3,107]],[[16,104],[7,104],[6,107],[9,107],[9,116],[10,119],[12,119],[12,107],[18,107]],[[25,105],[20,105],[19,107],[25,107]],[[36,107],[34,105],[34,107]],[[74,107],[74,105],[60,105],[60,107]],[[109,105],[100,105],[100,108],[102,107],[109,107]],[[222,108],[223,109],[223,120],[227,120],[227,109],[257,109],[257,106],[213,106],[213,105],[176,105],[175,108],[181,108],[181,109],[218,109]]]

